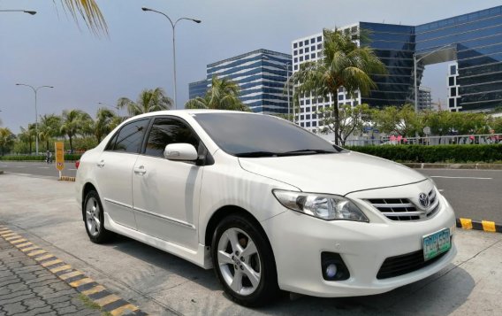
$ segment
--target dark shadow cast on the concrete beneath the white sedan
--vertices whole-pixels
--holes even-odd
[[[163,250],[157,250],[125,236],[117,235],[108,246],[120,250],[129,256],[141,259],[149,265],[156,266],[156,278],[160,274],[176,275],[183,280],[194,281],[198,286],[211,291],[208,298],[200,297],[197,313],[211,315],[433,315],[450,314],[464,304],[475,287],[475,281],[461,266],[447,266],[437,274],[393,289],[390,292],[366,297],[322,298],[284,293],[276,302],[261,308],[249,309],[233,304],[225,297],[221,285],[213,270],[205,270],[200,266],[178,258]],[[152,276],[147,272],[136,274],[135,284],[151,282]],[[163,288],[164,289],[164,288]],[[161,290],[161,289],[159,289]],[[152,289],[155,292],[155,285]],[[216,292],[216,293],[214,293]],[[152,295],[149,293],[148,295]],[[190,301],[186,297],[186,300]],[[194,302],[194,299],[192,299]],[[186,311],[186,302],[170,302],[170,307]]]

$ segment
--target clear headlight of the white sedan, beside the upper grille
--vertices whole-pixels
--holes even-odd
[[[346,197],[282,189],[274,189],[272,193],[279,203],[288,209],[322,220],[369,221],[364,213]]]

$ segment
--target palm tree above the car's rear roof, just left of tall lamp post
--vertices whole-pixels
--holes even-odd
[[[119,109],[127,108],[130,116],[140,115],[148,112],[170,110],[172,99],[167,96],[164,89],[144,89],[138,96],[138,101],[133,102],[127,97],[121,97],[117,101]]]

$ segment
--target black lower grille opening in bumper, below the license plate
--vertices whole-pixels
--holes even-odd
[[[448,250],[449,251],[449,250]],[[417,250],[415,252],[410,252],[405,255],[395,256],[386,258],[378,274],[376,274],[376,279],[388,279],[395,276],[409,274],[416,270],[422,269],[422,267],[430,266],[443,256],[445,256],[448,251],[443,252],[437,257],[431,258],[427,261],[423,260],[423,250]]]

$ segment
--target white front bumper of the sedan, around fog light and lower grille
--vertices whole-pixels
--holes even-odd
[[[436,216],[422,221],[324,221],[290,210],[263,221],[274,251],[280,289],[316,297],[364,296],[384,293],[437,273],[457,253],[453,209],[444,197],[440,198],[441,208]],[[408,274],[376,278],[385,258],[422,250],[422,237],[444,228],[450,228],[452,247],[441,258]],[[323,279],[323,251],[341,256],[350,273],[348,280]]]

